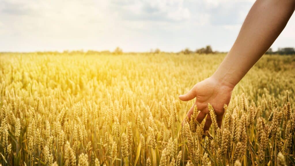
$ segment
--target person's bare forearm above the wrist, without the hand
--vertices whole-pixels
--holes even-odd
[[[235,87],[276,40],[294,9],[295,0],[257,0],[234,45],[212,77]]]

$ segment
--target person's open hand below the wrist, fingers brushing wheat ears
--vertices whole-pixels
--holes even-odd
[[[226,86],[219,82],[213,77],[209,77],[197,84],[185,95],[180,95],[179,99],[182,101],[189,101],[196,97],[196,102],[194,105],[197,105],[198,110],[200,111],[196,120],[201,123],[205,116],[207,115],[204,130],[209,130],[212,120],[208,110],[208,103],[212,105],[216,114],[216,121],[218,126],[221,126],[222,118],[224,114],[224,104],[228,105],[232,95],[233,87]],[[194,111],[194,105],[191,107],[187,116],[189,119]]]

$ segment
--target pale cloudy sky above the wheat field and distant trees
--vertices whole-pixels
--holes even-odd
[[[253,0],[0,0],[0,52],[229,51]],[[295,16],[273,43],[295,47]]]

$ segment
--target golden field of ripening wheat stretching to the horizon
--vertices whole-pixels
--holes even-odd
[[[1,165],[295,165],[295,56],[263,56],[221,128],[182,125],[224,56],[0,53]]]

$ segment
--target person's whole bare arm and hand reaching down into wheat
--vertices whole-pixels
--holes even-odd
[[[257,0],[250,9],[237,39],[215,73],[194,85],[182,101],[196,98],[201,112],[197,121],[201,123],[209,113],[210,103],[216,113],[218,126],[224,115],[224,104],[229,104],[232,90],[251,67],[268,50],[278,35],[283,31],[295,10],[295,0]],[[194,105],[188,111],[190,118]],[[210,114],[207,115],[204,130],[211,126]]]

